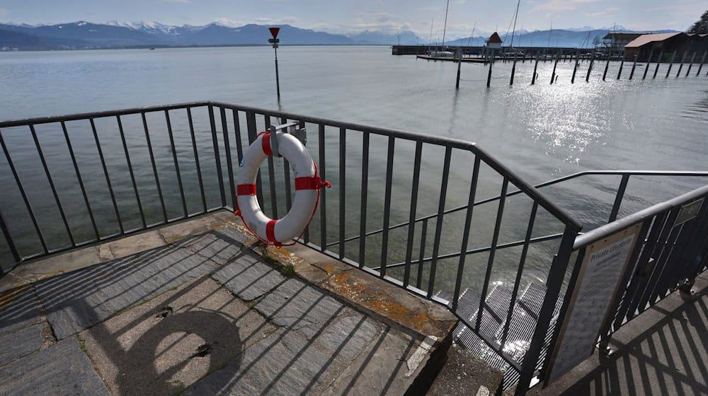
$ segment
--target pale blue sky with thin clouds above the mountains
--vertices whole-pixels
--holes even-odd
[[[150,22],[171,25],[287,23],[329,33],[413,30],[442,35],[447,0],[0,0],[0,22]],[[450,0],[447,37],[476,30],[504,33],[516,0]],[[708,9],[706,0],[521,0],[517,29],[606,28],[686,30]]]

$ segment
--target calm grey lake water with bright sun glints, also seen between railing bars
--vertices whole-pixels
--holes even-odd
[[[280,103],[275,98],[273,50],[268,47],[1,52],[0,120],[219,100],[475,141],[532,184],[588,169],[708,170],[706,67],[701,76],[695,76],[698,65],[694,65],[691,75],[685,77],[687,66],[684,66],[681,76],[676,78],[678,65],[675,65],[671,76],[664,78],[667,65],[662,65],[658,77],[651,79],[651,66],[650,78],[642,81],[645,65],[639,64],[634,80],[627,81],[632,64],[625,64],[618,81],[619,64],[613,63],[607,81],[603,82],[605,62],[598,62],[590,82],[586,83],[588,63],[583,62],[576,83],[571,84],[573,64],[566,62],[558,65],[557,83],[549,85],[553,65],[542,62],[537,84],[530,86],[533,64],[525,62],[517,65],[515,84],[509,86],[511,64],[499,62],[493,66],[492,86],[486,88],[486,66],[462,64],[463,81],[459,91],[455,91],[457,64],[392,56],[389,47],[281,47],[278,55]],[[190,180],[195,179],[195,171],[185,115],[173,117],[179,161],[185,183],[189,185]],[[203,114],[200,120],[202,123],[197,121],[196,126],[200,156],[202,151],[208,156],[211,136]],[[171,150],[164,139],[164,119],[150,115],[148,121],[151,132],[157,135],[153,144],[159,170],[169,173]],[[262,120],[259,122],[262,124]],[[122,146],[115,137],[115,120],[99,120],[96,126],[109,173],[115,177],[112,182],[125,228],[139,226]],[[105,194],[103,173],[90,131],[86,123],[69,123],[67,127],[79,168],[85,174],[89,199],[93,209],[98,211],[101,234],[113,233],[118,225]],[[145,143],[142,123],[139,117],[126,117],[124,127],[146,214],[159,221],[152,168],[147,154],[141,151]],[[309,146],[316,154],[316,127],[308,128],[309,139],[313,141]],[[11,128],[3,134],[23,183],[27,185],[33,208],[38,214],[55,219],[54,226],[43,230],[47,234],[60,233],[60,219],[47,193],[47,182],[28,130]],[[56,179],[60,199],[67,206],[72,231],[77,240],[91,238],[86,209],[61,130],[56,126],[38,127],[38,136]],[[335,184],[327,196],[328,216],[334,221],[333,226],[329,226],[328,236],[329,240],[336,240],[338,131],[328,129],[327,136],[332,137],[326,144],[326,166],[328,178]],[[346,163],[347,236],[358,233],[360,141],[358,135],[347,140],[348,150],[352,152]],[[413,144],[396,143],[395,174],[408,176],[394,177],[392,224],[408,218],[413,148]],[[425,149],[427,159],[423,161],[418,216],[437,210],[443,152],[442,149]],[[372,138],[367,223],[370,230],[382,224],[385,153],[385,139]],[[467,202],[471,163],[471,157],[453,156],[447,208]],[[282,169],[278,171],[282,173]],[[632,180],[621,214],[661,202],[704,182],[706,179]],[[18,239],[21,252],[23,255],[37,252],[38,241],[33,237],[33,228],[4,156],[0,156],[0,183],[4,186],[0,190],[0,207],[13,236]],[[169,175],[161,175],[161,183],[165,184],[163,190],[171,217],[179,216],[181,206],[173,180]],[[216,187],[213,180],[205,180],[205,183],[207,191]],[[543,191],[569,209],[583,222],[583,228],[589,230],[606,221],[618,183],[619,177],[586,177]],[[483,172],[477,197],[494,196],[500,188],[501,178]],[[193,188],[187,190],[189,209],[196,211],[198,195]],[[208,198],[211,204],[218,204],[213,194]],[[518,202],[510,199],[508,202],[501,243],[523,238],[530,205],[521,201],[523,199]],[[475,212],[469,248],[489,245],[495,211],[496,204],[489,204]],[[280,213],[282,216],[282,211]],[[459,251],[459,233],[464,223],[461,219],[464,216],[459,214],[445,218],[441,254]],[[559,231],[559,223],[550,216],[539,216],[534,236]],[[319,217],[315,221],[319,221]],[[428,228],[426,256],[432,250],[433,224]],[[420,223],[416,228],[416,247],[419,228]],[[392,233],[389,262],[403,260],[406,232],[406,228],[399,228]],[[50,248],[58,248],[67,240],[57,237],[50,242]],[[3,243],[0,242],[0,264],[7,267],[10,256]],[[367,238],[367,263],[377,264],[379,244],[377,237],[372,237],[370,242]],[[530,252],[525,279],[543,281],[555,249],[556,242],[535,245]],[[346,252],[357,260],[358,242],[348,243]],[[418,248],[413,252],[413,256],[417,255]],[[505,283],[513,279],[519,255],[520,249],[516,248],[498,252],[493,280]],[[465,284],[479,287],[487,257],[484,253],[468,258]],[[438,268],[442,268],[442,276],[436,280],[436,289],[450,289],[457,259],[443,260]]]

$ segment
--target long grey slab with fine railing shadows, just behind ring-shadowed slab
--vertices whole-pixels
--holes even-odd
[[[168,246],[56,276],[35,289],[57,338],[64,339],[216,267]]]

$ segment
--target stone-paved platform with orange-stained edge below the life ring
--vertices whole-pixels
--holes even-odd
[[[444,308],[206,217],[3,279],[0,394],[426,392],[456,322]]]

